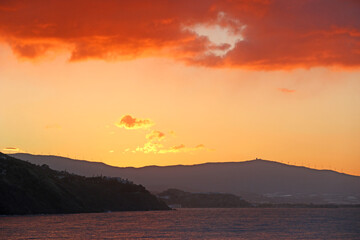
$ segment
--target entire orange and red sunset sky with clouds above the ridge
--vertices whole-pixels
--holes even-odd
[[[360,175],[360,2],[1,1],[0,151]]]

